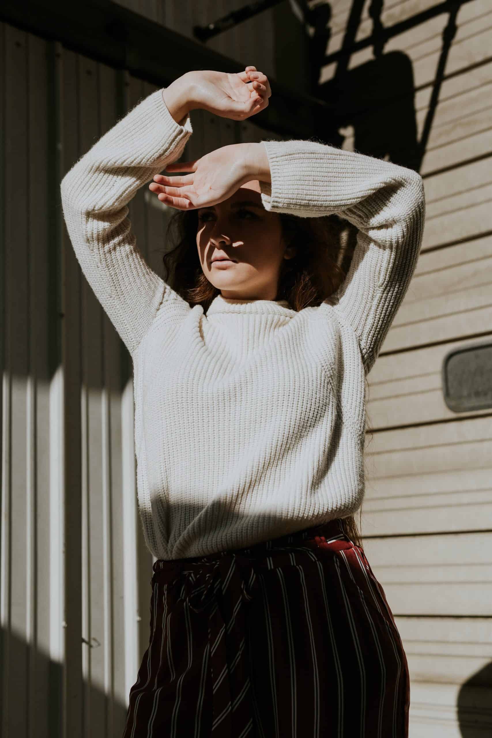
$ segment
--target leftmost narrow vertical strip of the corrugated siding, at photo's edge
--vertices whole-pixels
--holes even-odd
[[[5,27],[4,110],[4,348],[5,435],[4,515],[10,525],[5,537],[5,577],[2,627],[7,630],[4,666],[4,730],[27,735],[27,376],[29,351],[27,283],[27,38]],[[23,217],[21,217],[23,213]],[[13,534],[15,531],[15,534]],[[8,675],[8,679],[7,679]],[[8,691],[7,691],[8,690]],[[15,695],[15,698],[14,698]]]

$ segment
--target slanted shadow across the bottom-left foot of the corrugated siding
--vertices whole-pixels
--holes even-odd
[[[1,681],[9,681],[8,690],[3,686],[0,691],[0,735],[5,738],[122,736],[126,705],[80,677],[77,699],[68,694],[63,706],[63,664],[4,629],[0,631],[0,668]],[[7,693],[10,700],[5,703]]]

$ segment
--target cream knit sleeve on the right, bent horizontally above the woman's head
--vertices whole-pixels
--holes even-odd
[[[336,213],[357,244],[333,306],[356,334],[369,373],[415,271],[423,234],[423,182],[414,170],[313,141],[263,141],[271,184],[266,210],[316,218]],[[320,306],[321,308],[322,306]]]

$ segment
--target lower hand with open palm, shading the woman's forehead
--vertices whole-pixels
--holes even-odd
[[[231,197],[245,182],[254,179],[247,165],[249,143],[235,143],[210,151],[192,162],[174,162],[166,171],[190,172],[185,176],[156,174],[149,189],[158,199],[177,210],[212,207]]]

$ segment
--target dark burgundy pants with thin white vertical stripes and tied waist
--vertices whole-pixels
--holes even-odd
[[[383,587],[339,520],[153,565],[123,738],[407,738]]]

